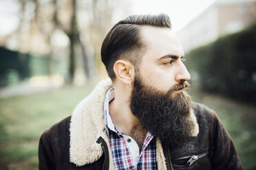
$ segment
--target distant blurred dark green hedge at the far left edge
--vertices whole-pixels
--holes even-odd
[[[49,56],[19,53],[0,47],[0,87],[17,84],[35,75],[49,74]]]

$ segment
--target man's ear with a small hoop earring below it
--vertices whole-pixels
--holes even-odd
[[[134,66],[131,62],[118,60],[114,64],[113,69],[118,80],[122,81],[124,84],[132,83],[134,79]]]

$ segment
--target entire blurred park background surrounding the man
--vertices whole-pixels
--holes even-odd
[[[37,169],[43,131],[107,77],[109,29],[160,12],[184,48],[192,100],[217,112],[256,169],[256,0],[1,0],[0,169]]]

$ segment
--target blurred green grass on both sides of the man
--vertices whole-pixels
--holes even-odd
[[[0,170],[38,169],[39,137],[48,127],[70,116],[93,86],[0,100]],[[189,91],[193,101],[215,110],[231,134],[244,169],[256,169],[255,107],[217,95]]]

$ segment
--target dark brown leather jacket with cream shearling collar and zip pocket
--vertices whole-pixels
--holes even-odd
[[[96,101],[103,101],[105,91],[111,84],[102,85],[103,96],[96,97]],[[72,117],[56,123],[42,134],[39,142],[40,170],[114,169],[104,131],[104,117],[95,113],[103,113],[103,108],[93,105],[95,95],[101,88],[96,88],[82,101]],[[92,106],[92,109],[87,109]],[[158,169],[243,169],[231,136],[215,112],[202,104],[193,103],[192,106],[199,127],[198,135],[175,148],[157,140]]]

